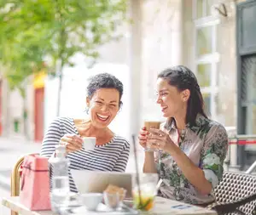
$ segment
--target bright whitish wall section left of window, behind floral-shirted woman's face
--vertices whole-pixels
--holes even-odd
[[[182,1],[145,0],[142,3],[141,123],[164,120],[155,104],[155,82],[166,67],[183,63]]]

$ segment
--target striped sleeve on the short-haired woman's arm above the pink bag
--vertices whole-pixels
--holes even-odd
[[[55,146],[59,144],[62,137],[61,119],[56,118],[50,123],[47,132],[44,135],[40,156],[50,157],[55,152]]]

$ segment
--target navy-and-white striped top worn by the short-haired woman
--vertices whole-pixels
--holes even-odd
[[[59,144],[61,137],[65,134],[77,134],[79,132],[74,124],[73,118],[58,117],[48,128],[44,135],[41,148],[41,156],[50,157],[55,152],[55,146]],[[130,154],[129,142],[117,135],[102,145],[96,145],[94,150],[78,150],[67,154],[70,161],[69,169],[125,172],[126,164]],[[78,192],[69,170],[70,191]]]

